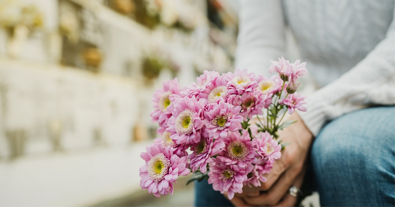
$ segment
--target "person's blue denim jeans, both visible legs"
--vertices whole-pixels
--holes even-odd
[[[314,176],[306,181],[321,207],[395,207],[395,106],[329,122],[313,143],[310,163]],[[233,207],[207,181],[195,184],[196,207]]]

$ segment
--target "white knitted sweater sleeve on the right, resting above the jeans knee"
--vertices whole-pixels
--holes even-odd
[[[345,113],[371,104],[395,104],[395,17],[386,37],[361,62],[317,90],[307,103],[307,112],[298,113],[315,136],[325,122]]]

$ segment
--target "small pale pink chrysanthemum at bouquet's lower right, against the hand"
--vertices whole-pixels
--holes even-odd
[[[281,144],[268,132],[260,132],[256,138],[252,139],[253,150],[256,156],[264,160],[277,160],[281,158]]]

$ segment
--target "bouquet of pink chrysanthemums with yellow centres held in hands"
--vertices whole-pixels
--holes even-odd
[[[306,63],[271,63],[269,71],[279,73],[271,78],[243,69],[204,71],[184,89],[176,78],[164,82],[151,113],[161,138],[141,153],[140,186],[157,197],[172,194],[178,176],[193,172],[190,181],[208,177],[214,190],[232,199],[244,185],[266,182],[285,146],[277,131],[294,122],[281,122],[285,113],[307,110],[295,93]]]

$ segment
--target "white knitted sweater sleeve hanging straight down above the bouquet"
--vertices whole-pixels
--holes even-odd
[[[283,56],[284,20],[279,0],[240,0],[236,69],[270,77],[270,60]]]

